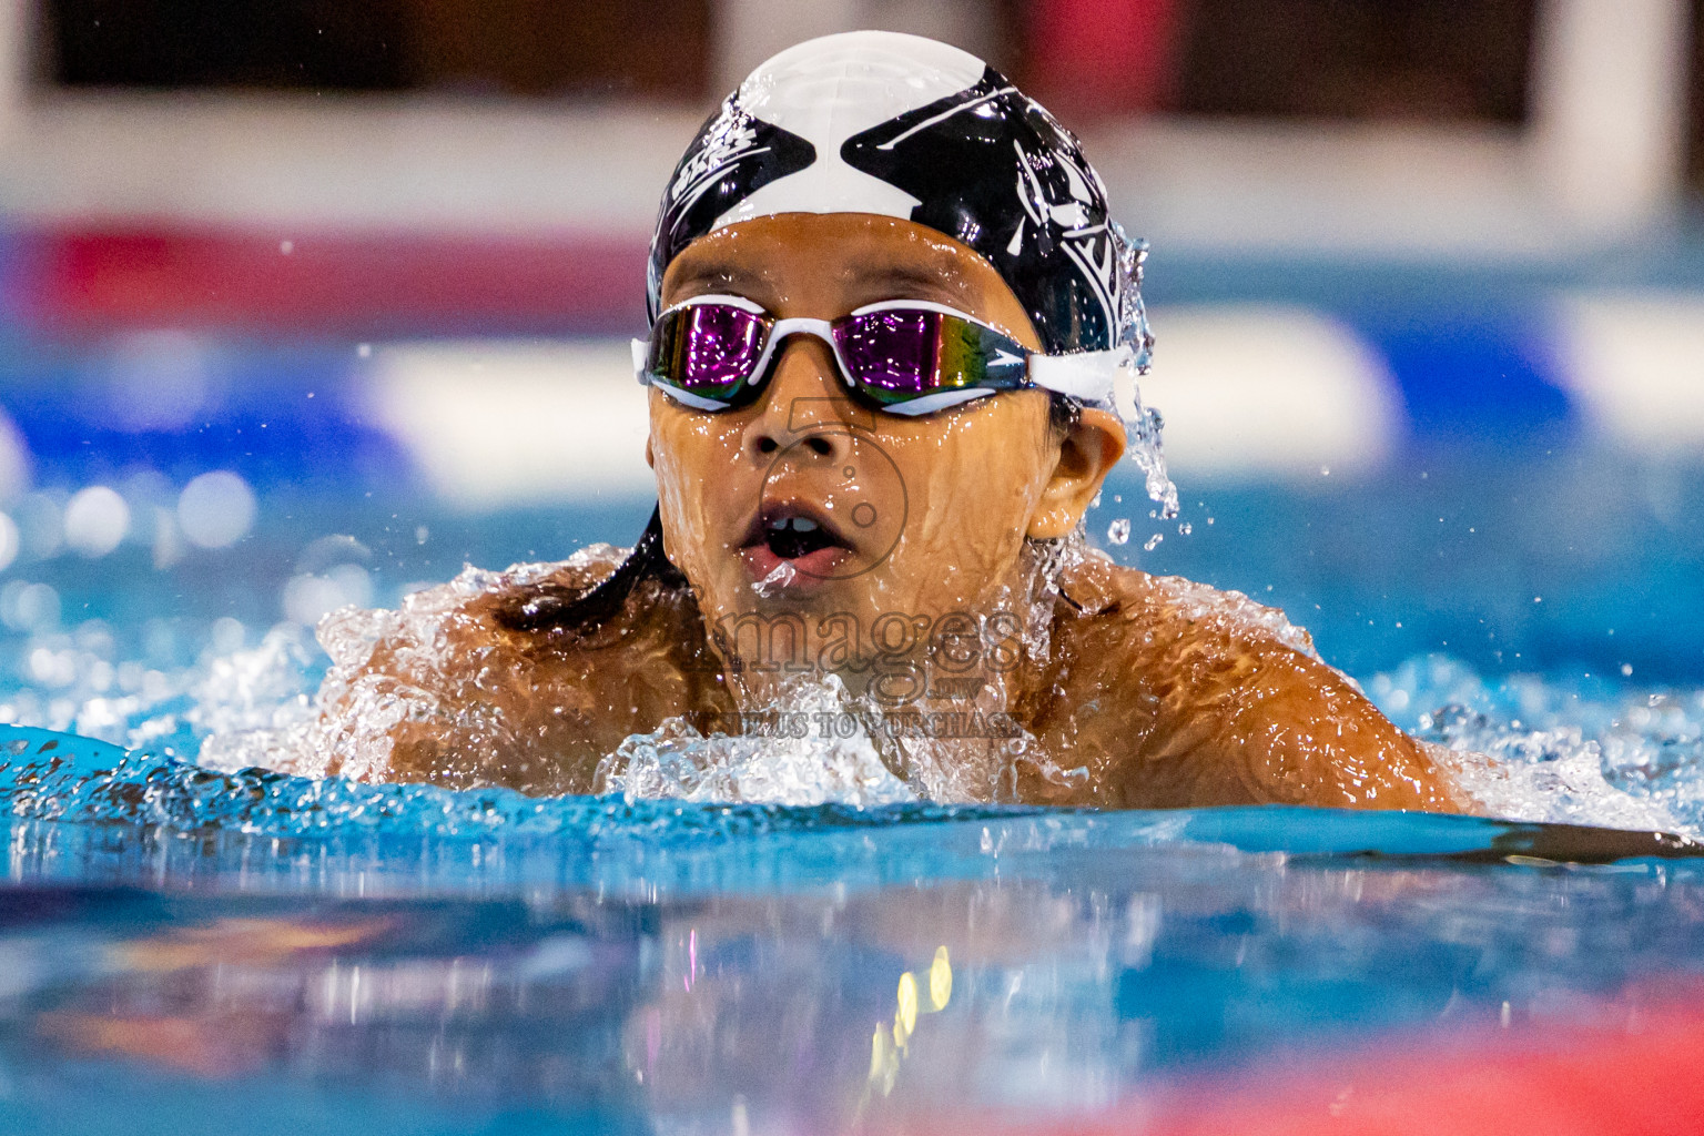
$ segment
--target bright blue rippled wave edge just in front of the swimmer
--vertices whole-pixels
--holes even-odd
[[[1343,809],[1123,811],[900,802],[815,807],[218,773],[106,743],[0,727],[14,879],[216,881],[417,894],[492,886],[699,892],[896,881],[1082,882],[1084,855],[1697,857],[1678,836]],[[760,841],[741,838],[762,836]],[[874,840],[879,836],[879,840]],[[729,843],[734,841],[734,843]],[[307,875],[303,875],[307,872]]]

